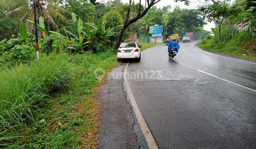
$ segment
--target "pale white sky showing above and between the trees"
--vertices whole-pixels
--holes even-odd
[[[142,4],[145,5],[145,0],[142,0]],[[123,3],[128,3],[129,0],[122,0]],[[134,2],[139,2],[139,0],[134,0]],[[163,6],[171,5],[172,9],[174,9],[175,6],[179,6],[180,8],[184,9],[196,9],[200,4],[202,4],[204,0],[190,0],[190,5],[186,6],[184,5],[184,2],[174,2],[174,0],[161,0],[158,3],[155,4],[155,6],[161,8]],[[207,21],[206,21],[207,22]],[[211,28],[214,27],[214,22],[208,22],[207,25],[204,26],[204,29],[206,31],[211,31]]]

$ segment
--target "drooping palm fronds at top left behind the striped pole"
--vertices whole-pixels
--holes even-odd
[[[46,24],[46,29],[53,27],[59,29],[54,20],[59,20],[64,24],[69,24],[69,21],[63,15],[63,13],[68,12],[63,7],[59,6],[60,0],[35,0],[36,2],[36,15],[37,23],[39,24],[39,17],[43,16],[44,22]],[[20,23],[28,20],[34,20],[33,15],[33,2],[32,0],[0,0],[0,3],[7,10],[7,16],[19,18],[19,22],[15,31],[18,31]],[[31,24],[26,24],[28,32],[33,32],[33,26]]]

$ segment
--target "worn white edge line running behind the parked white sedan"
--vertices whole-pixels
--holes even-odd
[[[130,84],[128,82],[128,79],[127,79],[127,67],[129,65],[129,62],[126,64],[126,67],[124,68],[124,84],[125,84],[125,87],[126,87],[126,92],[127,92],[127,95],[129,97],[129,100],[130,100],[130,103],[132,104],[132,107],[133,107],[133,111],[135,113],[135,116],[139,122],[139,125],[140,125],[140,128],[142,129],[142,132],[144,134],[144,137],[148,143],[148,146],[150,149],[158,149],[158,146],[156,145],[155,143],[155,140],[151,134],[151,132],[149,131],[149,128],[148,126],[146,125],[146,122],[139,110],[139,107],[135,101],[135,98],[133,96],[133,93],[132,93],[132,90],[130,88]]]

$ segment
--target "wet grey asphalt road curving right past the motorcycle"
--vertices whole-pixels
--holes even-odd
[[[193,43],[180,43],[175,59],[256,89],[255,64],[205,53]],[[159,45],[143,51],[141,61],[130,62],[127,70],[158,147],[256,148],[256,92],[177,61],[168,57],[166,45]]]

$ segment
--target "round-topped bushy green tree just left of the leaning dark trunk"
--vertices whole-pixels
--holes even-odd
[[[116,27],[119,25],[122,25],[123,20],[121,15],[116,11],[110,11],[108,13],[106,13],[103,18],[102,18],[102,22],[106,22],[105,27],[108,28],[112,28],[112,27]]]

